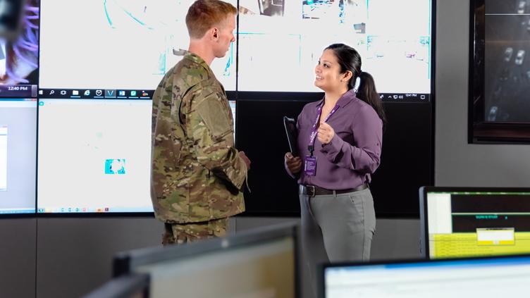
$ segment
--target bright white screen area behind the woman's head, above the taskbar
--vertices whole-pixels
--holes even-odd
[[[344,43],[378,92],[431,92],[431,0],[239,3],[240,91],[320,91],[314,67],[326,46]]]

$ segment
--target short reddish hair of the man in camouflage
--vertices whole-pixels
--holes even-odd
[[[220,0],[197,0],[187,10],[187,32],[192,38],[202,38],[211,27],[221,24],[228,15],[237,13],[232,4]]]

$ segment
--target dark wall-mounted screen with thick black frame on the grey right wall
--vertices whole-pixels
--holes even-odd
[[[469,142],[530,143],[530,4],[471,1]]]

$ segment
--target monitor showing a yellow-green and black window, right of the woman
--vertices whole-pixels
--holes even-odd
[[[530,188],[421,187],[429,259],[530,253]]]

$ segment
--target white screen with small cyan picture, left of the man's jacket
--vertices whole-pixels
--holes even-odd
[[[152,211],[149,100],[39,101],[38,212]]]

